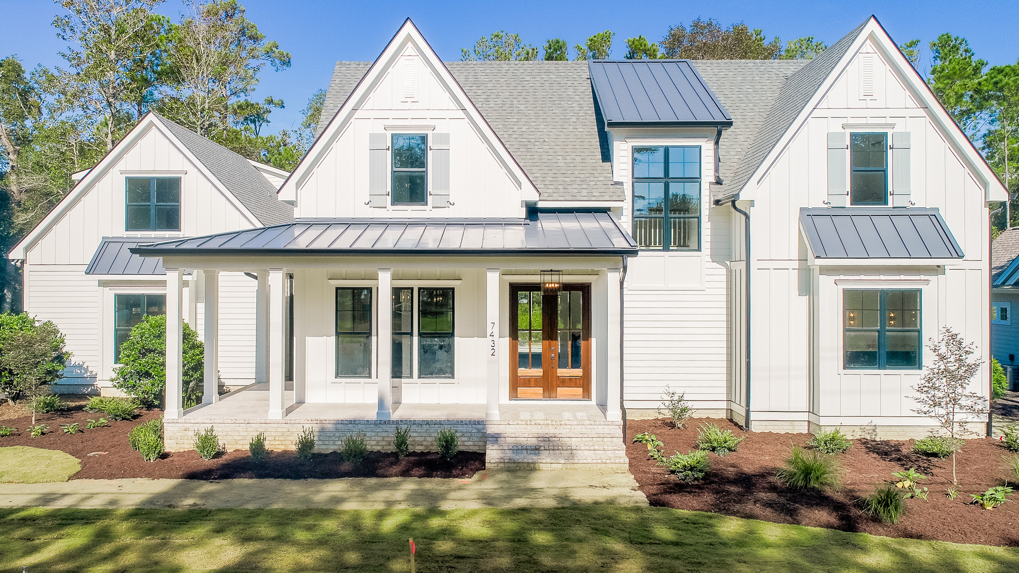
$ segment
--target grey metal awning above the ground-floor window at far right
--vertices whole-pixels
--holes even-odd
[[[961,259],[937,209],[800,209],[800,226],[817,259]]]

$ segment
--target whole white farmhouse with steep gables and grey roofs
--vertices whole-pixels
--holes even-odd
[[[150,115],[10,256],[66,382],[108,390],[118,313],[166,312],[171,356],[196,326],[170,449],[454,426],[493,465],[622,465],[666,387],[754,430],[928,431],[925,342],[987,358],[1005,198],[873,17],[800,61],[443,63],[408,20],[337,62],[293,173]]]

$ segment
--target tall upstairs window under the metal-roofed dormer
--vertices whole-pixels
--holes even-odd
[[[700,147],[634,147],[634,239],[642,249],[700,249]]]

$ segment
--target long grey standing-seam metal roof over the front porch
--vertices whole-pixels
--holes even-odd
[[[608,213],[538,213],[529,219],[298,219],[293,223],[131,249],[184,254],[584,254],[636,255]]]

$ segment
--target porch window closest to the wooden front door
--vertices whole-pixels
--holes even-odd
[[[418,376],[453,377],[452,289],[418,290]]]

